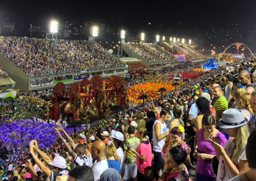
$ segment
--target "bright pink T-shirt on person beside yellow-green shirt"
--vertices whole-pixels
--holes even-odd
[[[148,143],[148,144],[147,144]],[[137,169],[140,171],[141,174],[144,174],[144,170],[146,167],[151,167],[151,161],[152,161],[152,149],[151,144],[149,141],[143,141],[140,143],[137,152],[140,154],[140,156],[145,155],[146,160],[142,161],[140,158],[136,158],[136,165]]]

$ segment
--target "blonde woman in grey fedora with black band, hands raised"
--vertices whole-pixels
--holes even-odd
[[[228,181],[249,170],[245,152],[250,134],[248,121],[244,118],[243,112],[238,109],[225,110],[222,119],[218,121],[217,125],[224,128],[230,137],[224,147],[216,137],[210,141],[219,161],[217,181]]]

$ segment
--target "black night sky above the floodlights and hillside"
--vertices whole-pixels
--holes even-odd
[[[26,27],[30,24],[46,27],[52,14],[59,22],[101,19],[134,34],[147,31],[194,40],[198,36],[195,31],[207,32],[227,23],[256,28],[256,0],[2,0],[0,3],[0,20],[7,21],[9,17],[9,21],[22,22]]]

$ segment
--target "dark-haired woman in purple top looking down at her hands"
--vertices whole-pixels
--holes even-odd
[[[216,155],[214,148],[208,142],[209,138],[216,137],[221,146],[227,142],[226,137],[215,129],[216,121],[211,113],[205,114],[202,118],[203,128],[198,131],[198,150],[194,155],[198,158],[195,171],[197,172],[197,181],[216,181],[215,176],[211,172],[212,158]],[[198,154],[199,153],[199,154]]]

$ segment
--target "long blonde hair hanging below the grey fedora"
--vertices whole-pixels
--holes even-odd
[[[249,138],[249,135],[250,135],[250,132],[247,124],[245,124],[244,126],[238,127],[238,132],[235,137],[235,147],[231,151],[231,155],[230,155],[230,159],[232,161],[236,160],[236,158],[238,157],[239,153],[244,147],[244,144]]]

